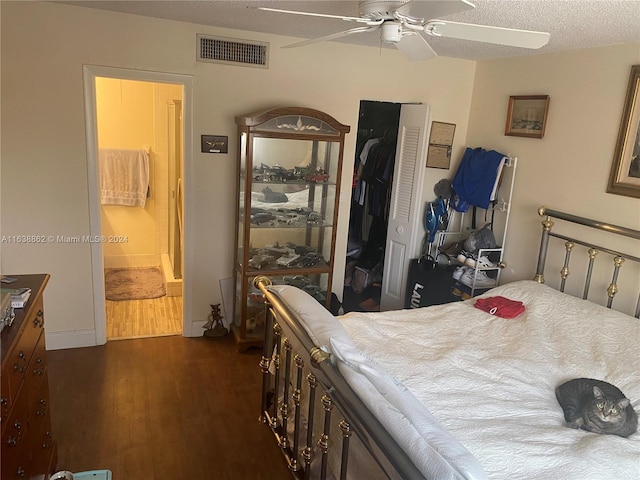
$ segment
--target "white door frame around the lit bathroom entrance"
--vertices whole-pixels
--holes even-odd
[[[85,106],[85,130],[87,144],[87,186],[89,193],[89,230],[91,238],[100,238],[102,235],[102,221],[100,217],[100,195],[98,177],[98,130],[96,112],[96,88],[97,77],[116,78],[122,80],[138,80],[153,83],[173,83],[182,85],[182,118],[183,118],[183,142],[182,154],[183,166],[183,219],[184,219],[184,251],[183,251],[183,276],[182,276],[182,335],[191,336],[191,317],[193,316],[193,299],[191,283],[193,272],[192,245],[195,234],[195,222],[191,221],[191,212],[194,211],[194,199],[192,185],[191,161],[193,153],[192,145],[192,119],[193,119],[193,77],[189,75],[154,72],[147,70],[131,70],[127,68],[104,67],[99,65],[83,65],[84,82],[84,106]],[[91,270],[93,279],[93,310],[95,321],[96,345],[107,343],[107,317],[104,285],[104,259],[102,244],[91,243]]]

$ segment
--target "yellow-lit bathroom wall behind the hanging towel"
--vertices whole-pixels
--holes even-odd
[[[177,85],[113,78],[96,80],[100,148],[150,148],[150,195],[144,208],[103,205],[102,234],[124,239],[105,242],[106,268],[160,265],[167,252],[168,102],[181,98]]]

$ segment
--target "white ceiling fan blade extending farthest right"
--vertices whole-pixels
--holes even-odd
[[[546,32],[474,25],[471,23],[449,22],[446,20],[431,20],[427,22],[425,32],[429,35],[447,38],[459,38],[461,40],[473,40],[476,42],[534,49],[546,45],[551,37],[551,35]]]

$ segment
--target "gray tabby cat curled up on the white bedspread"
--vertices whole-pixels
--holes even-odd
[[[567,426],[588,432],[628,437],[638,428],[631,401],[610,383],[575,378],[556,388]]]

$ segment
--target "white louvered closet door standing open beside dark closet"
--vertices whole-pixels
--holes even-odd
[[[404,307],[409,263],[420,254],[430,111],[428,105],[402,105],[400,110],[380,310]]]

